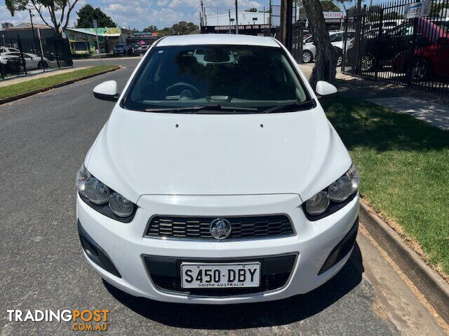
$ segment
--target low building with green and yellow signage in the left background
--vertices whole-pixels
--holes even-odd
[[[87,55],[97,50],[95,28],[66,28],[65,36],[69,39],[70,49],[76,55]],[[102,52],[111,52],[114,45],[126,43],[126,39],[132,36],[133,31],[121,27],[98,28],[98,44]]]

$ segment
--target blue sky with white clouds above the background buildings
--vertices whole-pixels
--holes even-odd
[[[144,29],[149,25],[156,25],[159,29],[171,27],[179,21],[194,22],[199,25],[200,0],[79,0],[70,15],[69,27],[76,22],[76,11],[85,3],[100,7],[120,27]],[[234,8],[234,0],[203,0],[207,15],[227,13],[228,8]],[[280,0],[274,0],[274,4]],[[269,8],[269,0],[239,0],[239,8]],[[37,14],[36,14],[37,15]],[[48,15],[47,15],[48,17]],[[33,18],[34,22],[41,22]],[[48,20],[49,21],[49,20]],[[29,22],[27,11],[17,12],[12,17],[6,9],[5,0],[0,0],[0,22],[11,22],[18,25]]]

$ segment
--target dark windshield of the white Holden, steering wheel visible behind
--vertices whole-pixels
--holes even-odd
[[[233,113],[233,108],[258,113],[283,105],[292,111],[310,109],[310,104],[301,104],[307,101],[312,102],[282,48],[185,45],[152,48],[123,107],[166,113],[194,108],[200,113],[202,107],[213,106],[222,113]]]

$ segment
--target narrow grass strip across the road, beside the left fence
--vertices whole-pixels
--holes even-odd
[[[36,90],[48,89],[70,80],[79,80],[84,77],[95,75],[96,73],[112,71],[115,69],[119,69],[119,66],[107,65],[103,66],[102,68],[100,66],[92,66],[91,68],[55,74],[54,76],[36,79],[30,78],[29,80],[22,83],[0,87],[0,99],[16,97],[20,94],[26,94],[28,92],[34,92]]]

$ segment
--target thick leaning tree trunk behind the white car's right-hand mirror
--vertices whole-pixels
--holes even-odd
[[[309,83],[312,87],[315,87],[316,82],[319,80],[335,83],[337,56],[333,46],[330,44],[321,3],[319,0],[304,0],[302,3],[306,10],[309,29],[314,36],[314,45],[316,47],[315,65],[311,72]]]

